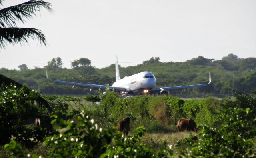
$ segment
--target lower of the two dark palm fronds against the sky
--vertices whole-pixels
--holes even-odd
[[[38,39],[40,44],[46,45],[44,34],[36,28],[0,28],[0,48],[5,48],[7,43],[25,44],[27,38]]]

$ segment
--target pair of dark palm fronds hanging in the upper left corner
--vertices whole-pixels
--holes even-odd
[[[0,5],[4,0],[0,0]],[[24,44],[28,38],[37,38],[40,44],[46,45],[46,39],[41,30],[36,28],[19,28],[16,22],[25,22],[24,19],[32,19],[40,8],[46,8],[52,12],[51,4],[42,0],[30,0],[28,2],[0,9],[0,48],[6,44]]]

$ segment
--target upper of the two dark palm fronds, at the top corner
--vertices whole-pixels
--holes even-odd
[[[43,0],[30,0],[22,4],[0,9],[0,25],[3,28],[17,26],[16,21],[20,20],[24,23],[24,18],[33,18],[33,16],[36,16],[36,12],[42,7],[52,12],[51,6],[50,3],[44,2]]]

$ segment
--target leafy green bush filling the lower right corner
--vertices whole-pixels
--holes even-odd
[[[187,139],[188,150],[184,155],[192,157],[252,157],[255,156],[253,139],[256,134],[256,98],[253,94],[236,93],[236,99],[223,100],[218,112],[220,128],[201,124],[196,139]],[[184,153],[187,151],[187,153]]]

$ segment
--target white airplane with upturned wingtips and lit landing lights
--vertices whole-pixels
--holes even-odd
[[[47,70],[46,70],[46,77]],[[172,86],[172,87],[159,87],[155,88],[156,86],[156,77],[152,72],[144,71],[138,74],[134,74],[132,76],[125,76],[124,78],[120,78],[119,68],[118,68],[118,59],[116,56],[116,82],[113,83],[112,86],[105,86],[105,85],[98,85],[98,84],[83,84],[83,83],[76,83],[76,82],[68,82],[62,80],[53,80],[57,83],[62,84],[71,84],[74,86],[85,86],[96,89],[110,89],[118,92],[120,96],[135,96],[135,95],[148,95],[148,94],[158,94],[158,95],[168,95],[170,90],[174,89],[183,89],[183,88],[192,88],[192,87],[201,87],[207,86],[211,83],[211,73],[209,73],[209,83],[206,84],[194,84],[188,86]]]

